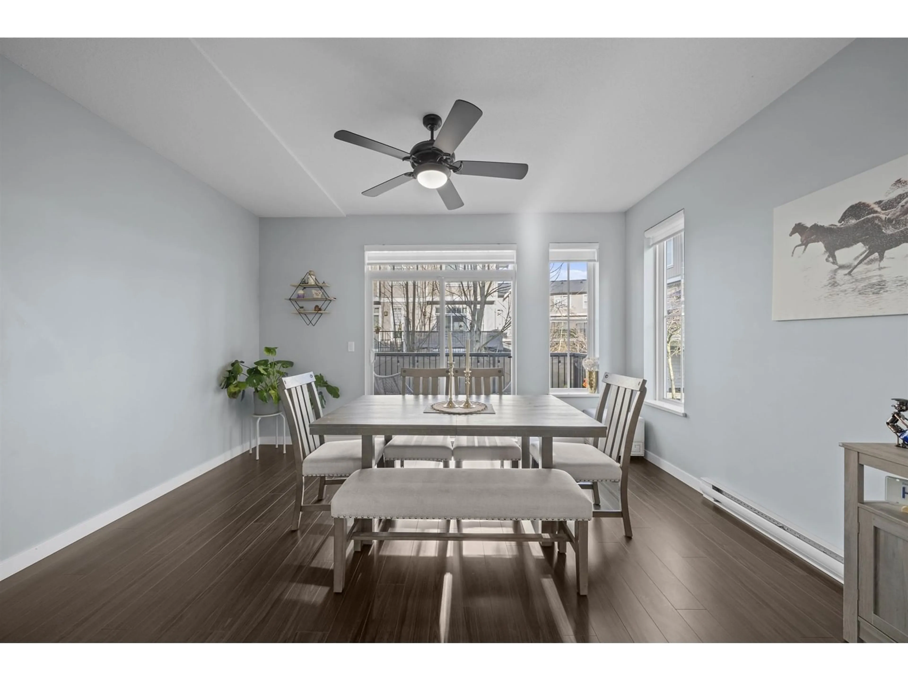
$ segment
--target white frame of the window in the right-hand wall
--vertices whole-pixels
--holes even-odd
[[[644,377],[648,384],[646,404],[678,416],[686,416],[684,400],[667,400],[666,394],[666,242],[684,233],[684,211],[670,215],[644,232]],[[682,270],[683,270],[682,265]],[[682,287],[684,279],[682,274]],[[686,324],[685,311],[682,317]],[[686,332],[682,327],[682,334]],[[682,340],[682,342],[684,342]],[[684,354],[681,355],[681,380],[685,385]],[[686,394],[684,395],[686,398]]]

